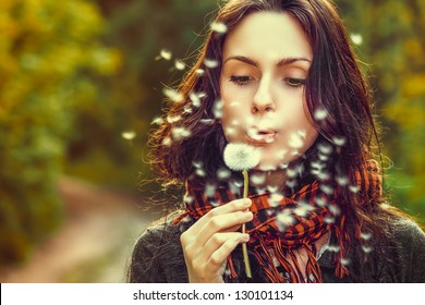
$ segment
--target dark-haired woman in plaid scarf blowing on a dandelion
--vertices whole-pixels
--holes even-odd
[[[385,204],[368,89],[335,9],[235,0],[214,24],[226,33],[209,33],[150,141],[185,206],[141,236],[130,281],[425,282],[425,234]],[[260,151],[248,199],[228,143]]]

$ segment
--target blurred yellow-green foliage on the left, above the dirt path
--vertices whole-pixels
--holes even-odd
[[[102,19],[83,0],[0,4],[0,264],[25,259],[59,224],[61,173],[75,109],[110,74],[118,52],[100,45]]]

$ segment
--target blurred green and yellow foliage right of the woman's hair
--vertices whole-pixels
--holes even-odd
[[[391,202],[425,224],[425,0],[336,2],[375,89]]]

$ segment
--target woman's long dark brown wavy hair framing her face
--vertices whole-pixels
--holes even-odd
[[[318,179],[312,171],[312,160],[326,163],[327,176],[333,178],[331,186],[338,190],[341,215],[345,216],[350,235],[350,244],[345,246],[364,257],[362,261],[367,260],[360,251],[365,242],[362,234],[372,233],[376,242],[384,235],[388,217],[397,212],[382,209],[381,198],[376,205],[369,203],[369,190],[363,190],[362,185],[359,192],[352,192],[335,182],[336,178],[355,181],[355,173],[366,171],[367,160],[374,157],[381,160],[371,91],[350,37],[327,0],[230,0],[219,10],[215,22],[224,24],[229,33],[246,15],[259,11],[291,14],[312,46],[314,57],[305,85],[304,108],[319,135],[290,167],[302,169],[298,171],[301,187]],[[208,33],[196,63],[178,88],[182,100],[170,107],[163,123],[150,137],[150,162],[165,185],[182,186],[196,175],[199,164],[203,174],[197,179],[204,181],[217,180],[217,172],[226,168],[222,151],[227,141],[220,120],[215,115],[220,100],[219,77],[226,37],[226,33]],[[325,119],[315,119],[318,110],[326,110]],[[190,136],[175,136],[173,131],[181,127]],[[320,147],[328,150],[325,159]]]

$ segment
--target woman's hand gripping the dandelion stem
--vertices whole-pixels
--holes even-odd
[[[253,219],[247,209],[251,199],[230,202],[210,210],[196,221],[181,237],[189,281],[192,283],[222,283],[226,259],[248,234],[236,230]]]

